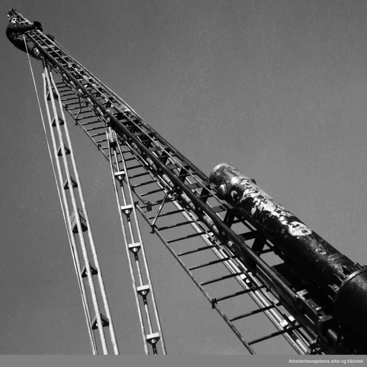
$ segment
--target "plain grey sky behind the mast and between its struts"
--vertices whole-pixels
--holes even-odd
[[[2,354],[91,353],[14,7],[38,20],[207,175],[233,164],[366,264],[365,1],[2,1]],[[41,63],[32,60],[41,91]],[[122,354],[143,353],[109,166],[70,126]],[[145,227],[145,232],[148,232]],[[167,352],[245,353],[146,233]],[[267,353],[291,352],[273,343]]]

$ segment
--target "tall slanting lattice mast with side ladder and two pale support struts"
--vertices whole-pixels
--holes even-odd
[[[10,12],[27,21],[15,10]],[[329,301],[323,288],[292,262],[292,251],[287,252],[274,233],[252,217],[251,209],[244,210],[234,197],[231,201],[224,195],[223,183],[218,184],[220,180],[209,179],[53,40],[39,30],[28,36],[43,55],[45,106],[93,353],[98,353],[99,345],[105,354],[109,346],[115,354],[119,349],[65,111],[109,161],[146,354],[166,353],[166,348],[137,213],[249,353],[261,352],[257,349],[261,342],[279,335],[299,354],[365,352],[363,336],[355,328],[346,327],[351,318],[341,317],[348,309],[340,310],[336,304],[339,308],[335,311],[334,299]],[[269,255],[274,265],[264,260]],[[327,261],[338,259],[333,255]],[[333,288],[334,296],[340,295],[339,289],[348,288],[344,287],[346,279],[350,284],[353,277],[365,274],[365,267],[353,266],[345,270],[349,272],[346,277],[335,273],[335,282],[327,284]],[[207,275],[213,273],[208,269],[212,267],[216,267],[216,276],[208,279]],[[84,282],[89,284],[89,290]],[[357,297],[363,304],[366,289],[362,283],[356,287],[360,287]],[[353,287],[344,297],[350,292],[353,295]],[[232,313],[229,302],[238,306],[249,300],[256,308]],[[248,340],[238,323],[259,313],[266,316],[274,331]]]

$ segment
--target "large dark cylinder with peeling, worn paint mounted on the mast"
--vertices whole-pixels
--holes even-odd
[[[346,330],[362,335],[367,328],[367,268],[353,262],[321,238],[227,163],[210,175],[211,188],[240,210],[284,255],[285,261],[324,292]]]

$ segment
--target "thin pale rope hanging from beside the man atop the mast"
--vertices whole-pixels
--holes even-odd
[[[24,44],[25,44],[25,48],[27,50],[27,55],[28,55],[28,61],[29,61],[29,66],[30,66],[30,71],[32,73],[32,78],[33,78],[33,84],[34,84],[34,89],[36,90],[36,95],[37,95],[37,101],[38,101],[38,106],[40,109],[40,113],[41,113],[41,120],[42,120],[42,125],[43,125],[43,130],[45,132],[45,137],[46,137],[46,142],[47,142],[47,148],[48,148],[48,153],[50,155],[50,160],[51,160],[51,165],[52,165],[52,171],[54,171],[54,177],[55,177],[55,182],[56,182],[56,187],[57,187],[57,193],[59,195],[59,201],[60,201],[60,206],[61,206],[61,211],[62,211],[62,216],[64,218],[64,223],[65,223],[65,227],[66,227],[66,233],[68,233],[68,240],[69,240],[69,246],[72,252],[72,257],[73,257],[73,262],[74,262],[74,268],[75,268],[75,272],[77,275],[77,279],[78,279],[78,285],[79,285],[79,290],[80,290],[80,294],[81,294],[81,298],[83,300],[83,308],[84,308],[84,314],[86,316],[86,320],[87,320],[87,325],[88,325],[88,334],[89,334],[89,338],[90,338],[90,342],[92,345],[92,352],[93,354],[97,354],[97,347],[95,345],[94,339],[92,338],[92,330],[91,330],[91,326],[90,326],[90,320],[88,318],[88,314],[87,314],[87,304],[86,304],[86,300],[84,299],[84,295],[83,295],[83,290],[81,288],[81,282],[80,282],[80,278],[79,278],[79,272],[77,269],[77,265],[76,265],[76,258],[75,258],[75,253],[74,253],[74,249],[71,243],[71,239],[70,239],[70,234],[69,234],[69,229],[68,229],[68,224],[66,222],[66,217],[65,217],[65,211],[64,211],[64,207],[62,205],[62,199],[61,199],[61,194],[60,194],[60,189],[59,189],[59,185],[57,183],[57,177],[56,177],[56,172],[55,172],[55,167],[54,167],[54,162],[52,160],[52,154],[51,154],[51,149],[50,149],[50,143],[48,142],[48,138],[47,138],[47,132],[46,132],[46,126],[44,123],[44,119],[43,119],[43,113],[42,113],[42,109],[41,109],[41,104],[40,104],[40,99],[38,97],[38,92],[37,92],[37,87],[36,87],[36,81],[34,80],[34,74],[33,74],[33,69],[32,69],[32,64],[30,63],[30,58],[29,58],[29,53],[28,53],[28,48],[27,48],[27,44],[25,41],[25,37],[24,38]]]

